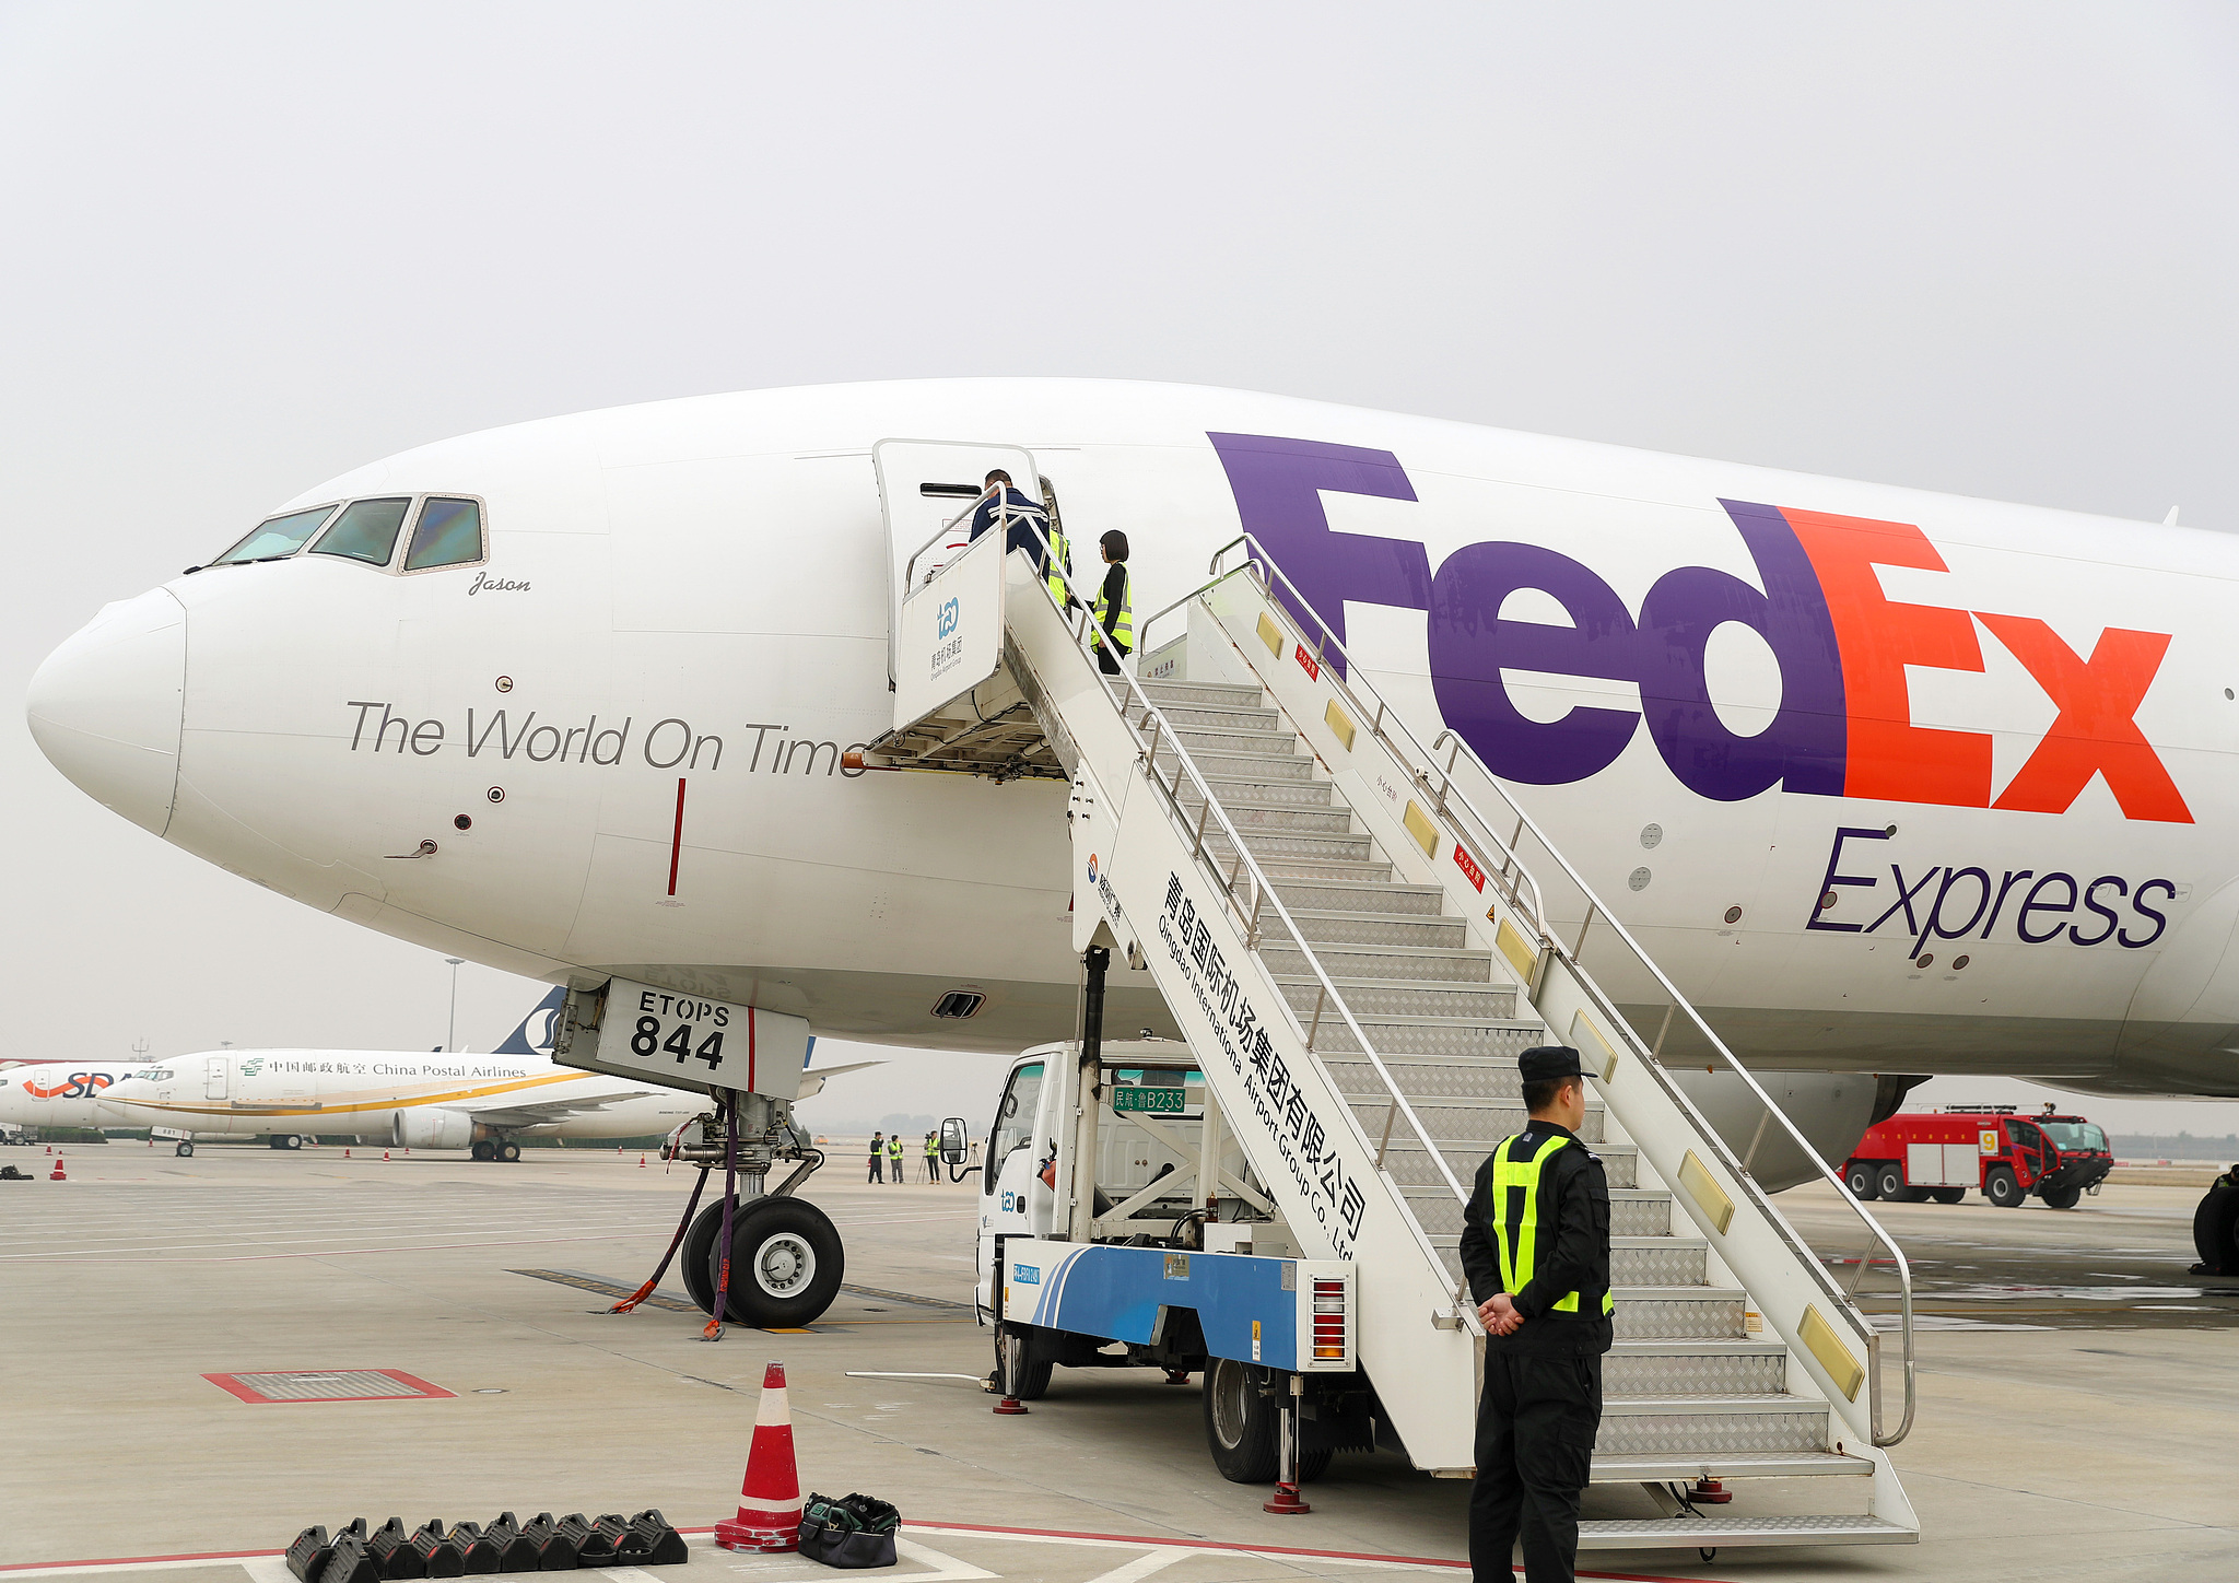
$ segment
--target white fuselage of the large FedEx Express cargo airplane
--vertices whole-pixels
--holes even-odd
[[[2239,1095],[2239,542],[2176,526],[1180,385],[768,390],[423,446],[184,544],[215,560],[56,649],[31,730],[430,949],[1064,1039],[1066,786],[846,761],[891,725],[896,439],[1030,452],[1075,546],[1126,531],[1137,625],[1249,531],[1802,1111],[1847,1086],[1861,1128],[1861,1072]],[[1111,1014],[1173,1032],[1146,974]]]

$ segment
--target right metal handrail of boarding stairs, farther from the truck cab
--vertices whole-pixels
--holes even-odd
[[[1415,781],[1422,786],[1422,790],[1426,795],[1431,795],[1431,799],[1435,802],[1440,817],[1449,824],[1449,831],[1453,831],[1455,835],[1460,835],[1464,840],[1469,840],[1471,835],[1476,835],[1476,840],[1482,840],[1484,844],[1491,844],[1493,849],[1502,851],[1507,855],[1507,860],[1516,864],[1516,871],[1523,875],[1523,882],[1514,887],[1514,891],[1511,891],[1511,905],[1516,905],[1518,911],[1525,911],[1523,905],[1516,900],[1516,893],[1520,893],[1525,887],[1529,887],[1531,902],[1534,902],[1534,907],[1529,911],[1529,918],[1531,918],[1531,925],[1538,929],[1540,938],[1545,940],[1545,945],[1549,949],[1554,949],[1570,965],[1572,974],[1578,978],[1578,983],[1585,987],[1585,992],[1596,1001],[1596,1005],[1603,1010],[1603,1014],[1610,1017],[1617,1025],[1621,1025],[1632,1037],[1632,1041],[1641,1050],[1648,1052],[1650,1059],[1643,1061],[1643,1066],[1650,1072],[1655,1072],[1657,1084],[1681,1108],[1681,1113],[1688,1115],[1688,1117],[1693,1117],[1695,1128],[1702,1135],[1702,1142],[1706,1146],[1711,1146],[1733,1169],[1735,1180],[1746,1187],[1746,1191],[1755,1200],[1758,1209],[1767,1216],[1767,1220],[1773,1225],[1773,1229],[1780,1234],[1780,1238],[1787,1240],[1789,1247],[1798,1254],[1800,1263],[1805,1263],[1811,1270],[1811,1274],[1816,1276],[1818,1285],[1827,1292],[1827,1296],[1832,1301],[1840,1303],[1843,1308],[1849,1308],[1849,1310],[1856,1312],[1856,1303],[1852,1301],[1852,1294],[1858,1290],[1858,1283],[1865,1278],[1865,1270],[1874,1263],[1874,1258],[1872,1258],[1874,1243],[1879,1243],[1881,1249],[1887,1254],[1890,1265],[1896,1272],[1899,1310],[1901,1310],[1901,1319],[1903,1319],[1901,1330],[1903,1330],[1905,1415],[1899,1422],[1899,1426],[1896,1426],[1894,1433],[1883,1435],[1883,1431],[1881,1431],[1881,1390],[1879,1390],[1879,1377],[1876,1377],[1876,1381],[1874,1381],[1876,1388],[1872,1393],[1872,1426],[1874,1426],[1874,1444],[1876,1446],[1894,1446],[1896,1442],[1901,1442],[1905,1435],[1912,1433],[1912,1415],[1914,1415],[1914,1406],[1917,1406],[1914,1341],[1912,1341],[1912,1267],[1910,1267],[1910,1263],[1905,1263],[1903,1249],[1881,1227],[1881,1223],[1865,1209],[1865,1205],[1858,1202],[1858,1198],[1849,1191],[1849,1184],[1834,1171],[1834,1167],[1829,1167],[1825,1160],[1820,1160],[1820,1153],[1818,1153],[1818,1149],[1811,1146],[1811,1140],[1807,1140],[1802,1135],[1802,1131],[1798,1131],[1796,1122],[1789,1120],[1787,1111],[1782,1111],[1778,1104],[1773,1104],[1773,1097],[1769,1093],[1764,1093],[1764,1086],[1758,1084],[1755,1075],[1746,1066],[1742,1066],[1742,1061],[1733,1055],[1733,1050],[1726,1048],[1726,1041],[1720,1039],[1717,1032],[1713,1032],[1711,1025],[1702,1019],[1702,1014],[1695,1010],[1695,1003],[1688,1001],[1679,992],[1679,987],[1664,974],[1664,970],[1657,967],[1657,963],[1648,956],[1648,952],[1641,949],[1639,940],[1632,938],[1632,931],[1626,929],[1626,925],[1619,922],[1619,918],[1608,907],[1601,905],[1601,896],[1594,891],[1594,887],[1590,887],[1585,882],[1585,875],[1581,875],[1578,869],[1570,862],[1570,858],[1565,858],[1563,851],[1552,840],[1547,840],[1547,833],[1538,828],[1538,822],[1534,822],[1529,813],[1525,813],[1523,804],[1518,804],[1514,797],[1509,797],[1507,790],[1502,790],[1500,779],[1484,764],[1484,759],[1478,757],[1478,750],[1471,748],[1469,741],[1464,741],[1460,737],[1460,732],[1455,732],[1451,728],[1442,730],[1433,739],[1431,748],[1424,748],[1422,741],[1415,737],[1415,732],[1408,730],[1406,721],[1397,714],[1397,710],[1393,710],[1393,708],[1386,705],[1386,701],[1377,692],[1375,683],[1370,683],[1364,676],[1361,667],[1346,652],[1343,640],[1330,629],[1330,622],[1321,616],[1321,611],[1314,609],[1314,605],[1299,591],[1299,584],[1294,584],[1290,580],[1290,575],[1274,560],[1274,555],[1267,553],[1265,544],[1261,544],[1258,537],[1252,535],[1252,533],[1240,533],[1234,540],[1229,540],[1227,544],[1222,544],[1218,551],[1214,551],[1211,562],[1207,564],[1207,571],[1211,573],[1211,580],[1205,582],[1205,584],[1200,584],[1198,589],[1184,593],[1173,605],[1167,605],[1164,609],[1160,609],[1158,613],[1153,613],[1151,620],[1146,620],[1142,625],[1144,640],[1149,640],[1151,622],[1153,620],[1158,620],[1160,616],[1171,613],[1173,609],[1180,609],[1189,600],[1202,598],[1205,591],[1211,589],[1216,582],[1222,582],[1227,575],[1234,575],[1234,573],[1222,571],[1222,562],[1227,560],[1229,551],[1234,551],[1238,544],[1249,551],[1249,558],[1245,560],[1245,564],[1240,566],[1240,571],[1245,571],[1247,575],[1256,575],[1258,578],[1261,587],[1270,596],[1270,605],[1281,605],[1285,609],[1285,613],[1290,613],[1292,618],[1305,613],[1319,627],[1321,636],[1317,638],[1317,645],[1314,645],[1314,661],[1317,661],[1317,665],[1325,663],[1325,656],[1334,652],[1337,658],[1343,663],[1343,672],[1337,678],[1339,690],[1343,690],[1348,696],[1352,696],[1355,708],[1359,708],[1359,692],[1366,692],[1370,699],[1375,699],[1375,723],[1370,728],[1373,734],[1379,741],[1384,741],[1384,746],[1390,748],[1395,757],[1399,757],[1402,761],[1406,761],[1406,755],[1399,750],[1399,741],[1395,741],[1393,734],[1386,730],[1386,723],[1390,723],[1390,725],[1397,728],[1399,737],[1415,750],[1415,761],[1411,764],[1411,772],[1413,772]],[[1274,593],[1276,593],[1274,584],[1276,582],[1283,584],[1283,591],[1287,593],[1287,598],[1283,598],[1283,600],[1274,598]],[[1433,793],[1433,788],[1431,788],[1431,770],[1437,768],[1437,748],[1446,746],[1449,741],[1453,743],[1453,748],[1446,752],[1446,768],[1440,772],[1442,779],[1440,779],[1437,790]],[[1469,755],[1471,768],[1476,768],[1476,772],[1484,777],[1487,788],[1496,797],[1500,797],[1509,806],[1509,811],[1516,815],[1516,835],[1511,840],[1507,840],[1507,842],[1500,840],[1498,831],[1484,817],[1484,813],[1480,813],[1478,806],[1469,799],[1469,795],[1460,786],[1455,786],[1455,781],[1453,781],[1453,766],[1458,764],[1458,757],[1464,755],[1464,752]],[[1476,822],[1476,826],[1478,826],[1476,833],[1462,828],[1462,819],[1455,817],[1455,804],[1469,815],[1471,822]],[[1514,844],[1523,840],[1525,831],[1531,833],[1531,840],[1536,840],[1538,846],[1540,846],[1540,851],[1547,853],[1547,858],[1552,858],[1556,862],[1556,867],[1578,889],[1578,893],[1585,896],[1585,902],[1587,902],[1585,922],[1581,922],[1581,927],[1578,927],[1578,940],[1576,940],[1574,947],[1565,945],[1554,934],[1554,929],[1549,927],[1547,914],[1540,907],[1540,887],[1538,887],[1538,880],[1536,880],[1536,875],[1529,873],[1529,869],[1525,869],[1523,858],[1516,853]],[[1820,1178],[1825,1178],[1827,1184],[1834,1187],[1838,1200],[1865,1225],[1865,1229],[1867,1229],[1867,1252],[1861,1254],[1861,1258],[1858,1258],[1858,1274],[1852,1278],[1849,1292],[1845,1292],[1840,1285],[1836,1285],[1834,1276],[1827,1274],[1825,1265],[1820,1263],[1820,1258],[1811,1249],[1811,1245],[1805,1243],[1802,1236],[1798,1236],[1796,1227],[1789,1225],[1789,1218],[1782,1216],[1780,1209],[1773,1207],[1773,1202],[1764,1193],[1764,1189],[1758,1187],[1758,1180],[1749,1173],[1749,1167],[1733,1155],[1733,1151],[1726,1146],[1726,1140],[1717,1133],[1717,1128],[1711,1126],[1708,1120],[1704,1120],[1704,1115],[1686,1097],[1686,1093],[1679,1090],[1679,1086],[1670,1081],[1670,1075],[1664,1070],[1664,1061],[1661,1061],[1664,1032],[1657,1034],[1655,1046],[1648,1046],[1648,1041],[1641,1039],[1639,1030],[1632,1028],[1632,1023],[1617,1010],[1617,1005],[1610,1001],[1610,996],[1601,990],[1601,985],[1594,981],[1594,976],[1585,972],[1581,954],[1585,949],[1585,934],[1594,925],[1596,916],[1608,922],[1608,927],[1617,936],[1617,940],[1632,954],[1632,961],[1639,967],[1646,967],[1648,974],[1655,978],[1655,983],[1664,990],[1664,994],[1670,996],[1670,1005],[1666,1010],[1666,1030],[1670,1025],[1670,1012],[1673,1010],[1684,1010],[1686,1019],[1695,1025],[1695,1032],[1699,1032],[1704,1037],[1704,1041],[1708,1041],[1711,1050],[1717,1057],[1722,1057],[1726,1061],[1726,1066],[1764,1104],[1767,1115],[1780,1120],[1782,1131],[1802,1151],[1802,1158],[1811,1162],[1811,1167],[1820,1173]],[[1379,1064],[1379,1070],[1381,1070],[1381,1064]],[[1760,1122],[1760,1133],[1762,1133],[1762,1122]],[[1755,1158],[1755,1146],[1751,1146],[1751,1160],[1753,1158]],[[1451,1173],[1449,1173],[1449,1180],[1451,1180]],[[1867,1346],[1870,1346],[1870,1352],[1876,1359],[1876,1364],[1879,1364],[1879,1339],[1881,1339],[1879,1332],[1874,1332],[1872,1326],[1867,1326]]]

